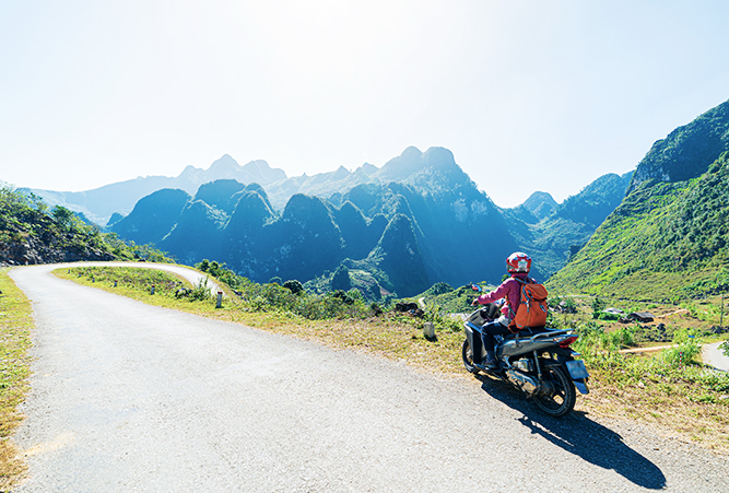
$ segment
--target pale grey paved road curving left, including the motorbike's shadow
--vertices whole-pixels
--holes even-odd
[[[37,330],[19,492],[729,491],[727,457],[504,385],[13,269]]]

